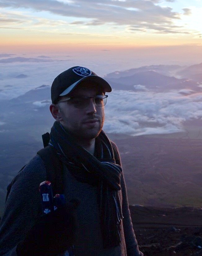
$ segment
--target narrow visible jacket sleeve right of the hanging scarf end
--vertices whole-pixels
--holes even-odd
[[[120,155],[118,148],[114,142],[112,143],[112,147],[114,149],[114,155],[117,163],[120,163]],[[122,165],[121,165],[122,166]],[[124,229],[124,236],[125,236],[125,245],[127,250],[127,256],[143,256],[143,253],[139,251],[138,243],[134,234],[133,224],[131,221],[129,204],[128,204],[128,197],[125,185],[125,179],[123,175],[123,171],[121,173],[121,193],[122,193],[122,213],[123,213],[123,229]]]

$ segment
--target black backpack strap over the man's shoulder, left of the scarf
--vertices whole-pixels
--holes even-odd
[[[48,145],[37,152],[46,167],[47,180],[51,181],[54,195],[64,194],[63,166],[54,147]]]

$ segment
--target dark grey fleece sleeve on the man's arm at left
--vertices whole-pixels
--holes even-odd
[[[0,255],[17,255],[16,246],[41,214],[39,185],[46,179],[42,159],[35,156],[14,178],[0,223]]]

